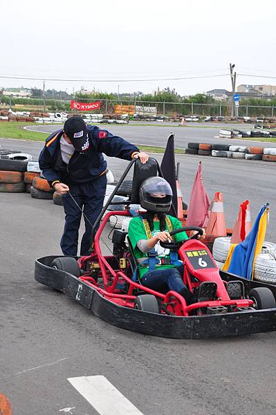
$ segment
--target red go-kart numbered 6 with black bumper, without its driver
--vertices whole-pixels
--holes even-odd
[[[116,185],[98,223],[132,164]],[[143,175],[139,176],[142,180]],[[162,243],[164,248],[176,250],[183,261],[183,281],[195,296],[190,305],[169,288],[157,292],[134,278],[137,264],[127,232],[114,230],[113,255],[102,255],[100,237],[109,217],[131,216],[130,202],[124,202],[125,211],[104,216],[93,237],[91,255],[39,258],[35,261],[35,279],[74,298],[103,320],[140,333],[167,338],[215,338],[276,330],[276,287],[219,270],[210,250],[195,239],[201,228],[171,232],[173,236],[183,230],[198,231],[184,243]]]

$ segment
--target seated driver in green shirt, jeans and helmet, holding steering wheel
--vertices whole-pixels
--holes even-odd
[[[128,234],[136,260],[140,263],[140,282],[155,291],[176,291],[188,305],[192,304],[195,299],[183,282],[182,262],[178,261],[177,253],[172,255],[169,249],[160,246],[160,241],[188,239],[186,232],[179,232],[174,237],[169,234],[183,228],[178,219],[166,214],[172,206],[172,188],[164,178],[150,177],[142,183],[139,197],[141,207],[147,212],[131,219]],[[196,232],[192,231],[191,236]]]

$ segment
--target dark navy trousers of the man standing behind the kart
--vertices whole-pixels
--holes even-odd
[[[105,174],[86,183],[69,185],[70,193],[80,208],[77,207],[69,194],[62,196],[65,225],[60,246],[64,255],[77,255],[77,242],[82,219],[81,210],[83,209],[85,216],[93,225],[102,210],[106,187],[107,176]],[[89,255],[89,249],[91,248],[92,227],[85,218],[84,223],[85,232],[80,246],[81,256]]]

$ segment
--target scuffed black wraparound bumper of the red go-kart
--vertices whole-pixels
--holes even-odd
[[[48,256],[35,261],[35,279],[41,284],[62,291],[102,320],[121,329],[176,339],[220,338],[276,331],[276,308],[221,315],[174,317],[120,306],[102,297],[95,288],[77,277],[51,268],[50,264],[55,258],[57,256]],[[224,277],[227,278],[228,274],[225,274]],[[230,277],[239,279],[237,276],[233,278],[233,275]],[[257,285],[271,287],[270,284]]]

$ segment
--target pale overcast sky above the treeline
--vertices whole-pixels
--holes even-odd
[[[263,76],[239,75],[237,85],[276,84],[264,77],[276,77],[275,9],[273,0],[5,2],[0,87],[43,87],[2,77],[21,76],[68,93],[81,86],[117,92],[119,85],[120,93],[169,86],[189,95],[230,90],[230,75],[163,79],[229,74],[230,62],[238,74]],[[115,82],[94,81],[104,79]]]

